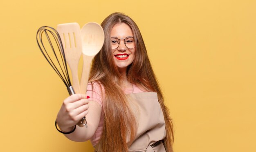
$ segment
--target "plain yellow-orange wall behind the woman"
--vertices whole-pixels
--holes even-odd
[[[92,152],[54,121],[67,90],[36,44],[40,26],[135,20],[175,127],[175,152],[255,152],[255,0],[0,2],[1,152]]]

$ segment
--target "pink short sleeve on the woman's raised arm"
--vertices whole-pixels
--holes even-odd
[[[103,86],[99,84],[98,82],[89,82],[87,85],[87,92],[86,95],[88,95],[90,98],[88,101],[95,101],[101,105],[102,108],[102,100],[103,100]]]

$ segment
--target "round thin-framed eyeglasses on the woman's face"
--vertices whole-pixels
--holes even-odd
[[[125,39],[118,39],[117,37],[111,37],[111,46],[112,49],[117,49],[119,44],[120,44],[120,40],[124,40],[124,45],[127,48],[135,48],[135,41],[134,41],[134,37],[126,37]]]

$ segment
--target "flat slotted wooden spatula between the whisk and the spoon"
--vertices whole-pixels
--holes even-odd
[[[82,54],[81,30],[78,23],[58,24],[57,31],[63,42],[65,58],[72,73],[72,86],[80,93],[78,64]]]

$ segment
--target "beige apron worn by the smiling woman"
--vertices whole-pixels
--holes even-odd
[[[128,148],[129,152],[166,152],[162,139],[166,136],[164,115],[157,100],[157,93],[132,93],[127,99],[135,106],[138,128],[135,141]],[[101,145],[95,146],[101,152]]]

